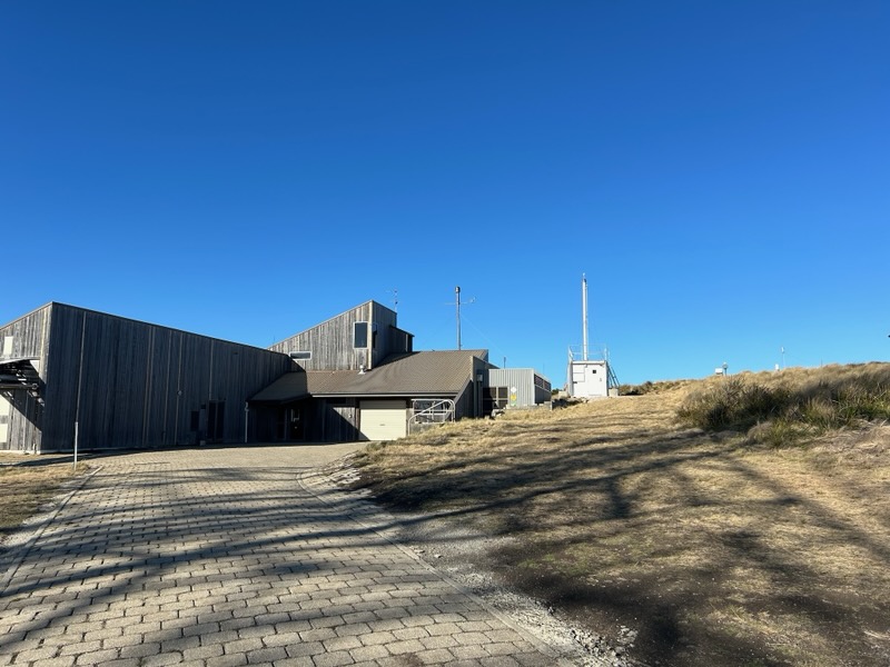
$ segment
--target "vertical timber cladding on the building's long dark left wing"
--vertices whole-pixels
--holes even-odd
[[[42,349],[46,361],[42,414],[17,397],[22,405],[11,410],[10,449],[36,441],[39,451],[71,451],[76,421],[82,449],[197,444],[208,439],[208,406],[214,441],[241,441],[247,398],[293,368],[269,350],[61,303],[0,335],[10,328],[17,356]]]

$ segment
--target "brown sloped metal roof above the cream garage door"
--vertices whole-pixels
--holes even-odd
[[[308,396],[456,396],[472,379],[473,357],[486,350],[408,352],[387,357],[376,368],[289,372],[250,400],[284,402]]]

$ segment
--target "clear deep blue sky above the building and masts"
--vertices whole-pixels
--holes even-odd
[[[890,356],[890,4],[0,3],[0,321],[393,305],[562,386]]]

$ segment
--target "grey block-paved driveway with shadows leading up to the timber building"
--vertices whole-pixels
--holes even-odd
[[[0,665],[555,664],[318,474],[355,448],[92,459],[10,555]]]

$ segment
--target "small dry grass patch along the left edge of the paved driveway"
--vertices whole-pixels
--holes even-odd
[[[86,469],[79,462],[75,472],[70,457],[0,454],[0,544]]]

